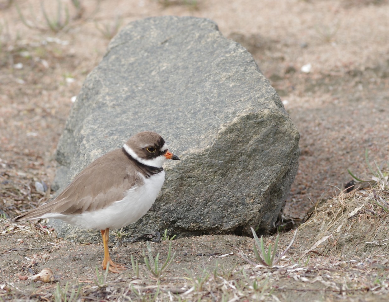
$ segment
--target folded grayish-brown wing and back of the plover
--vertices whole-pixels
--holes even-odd
[[[35,219],[48,213],[76,215],[121,200],[123,193],[143,183],[121,149],[111,151],[86,167],[57,198],[14,220]]]

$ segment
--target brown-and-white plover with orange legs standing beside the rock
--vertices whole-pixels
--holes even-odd
[[[14,221],[57,218],[84,229],[98,229],[104,245],[103,270],[125,270],[109,256],[110,229],[120,229],[144,216],[165,181],[163,163],[180,160],[156,132],[143,131],[123,147],[97,158],[56,198]]]

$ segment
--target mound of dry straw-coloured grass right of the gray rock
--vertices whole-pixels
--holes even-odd
[[[373,257],[387,253],[387,177],[375,188],[342,191],[328,200],[316,215],[300,226],[300,230],[317,230],[314,242],[321,241],[321,253],[343,257]]]

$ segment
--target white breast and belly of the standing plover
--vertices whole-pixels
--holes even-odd
[[[143,177],[143,176],[142,176]],[[141,218],[151,208],[165,181],[165,171],[149,178],[143,177],[144,184],[124,192],[122,200],[79,215],[61,215],[57,217],[80,228],[105,230],[117,229],[129,225]]]

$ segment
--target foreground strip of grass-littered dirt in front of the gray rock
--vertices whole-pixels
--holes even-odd
[[[377,295],[384,299],[389,297],[387,188],[386,180],[383,190],[344,193],[314,209],[299,227],[292,248],[273,267],[253,264],[258,260],[248,237],[204,235],[151,242],[148,252],[145,242],[126,244],[125,237],[111,234],[113,258],[129,269],[105,274],[100,268],[102,244],[75,244],[57,239],[53,230],[41,225],[2,219],[0,297],[69,299],[73,292],[74,300],[292,301],[301,295],[307,300],[373,301]],[[282,234],[278,253],[292,236]],[[265,238],[266,249],[275,239]],[[155,259],[159,254],[161,267],[169,244],[174,258],[165,274],[156,278],[144,257],[150,253]],[[54,284],[26,280],[43,267],[53,269]]]

